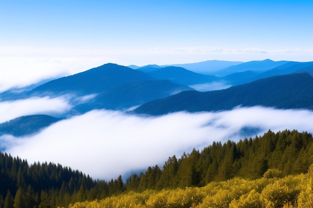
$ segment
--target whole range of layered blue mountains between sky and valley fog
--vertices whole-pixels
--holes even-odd
[[[61,115],[62,118],[24,115],[6,121],[0,124],[0,136],[33,134],[60,119],[93,109],[150,115],[177,111],[219,111],[255,105],[312,110],[312,72],[313,62],[269,59],[249,62],[214,60],[142,67],[108,63],[33,85],[33,88],[1,93],[1,101],[66,95],[72,108]],[[195,86],[212,84],[223,85],[225,89],[195,90]]]

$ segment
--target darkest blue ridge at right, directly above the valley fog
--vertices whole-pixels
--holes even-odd
[[[260,79],[224,90],[186,91],[145,103],[134,112],[161,115],[177,111],[230,110],[238,105],[313,109],[313,77],[308,73],[294,73]]]

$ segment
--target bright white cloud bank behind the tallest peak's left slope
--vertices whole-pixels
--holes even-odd
[[[0,47],[0,92],[114,61],[107,53],[87,49]]]

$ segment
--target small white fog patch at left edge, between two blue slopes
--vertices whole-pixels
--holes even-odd
[[[69,110],[71,105],[63,97],[31,97],[23,100],[0,102],[0,123],[25,115],[57,115]]]

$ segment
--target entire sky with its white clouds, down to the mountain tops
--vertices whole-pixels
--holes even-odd
[[[16,74],[11,86],[107,62],[312,61],[312,10],[311,0],[0,0],[0,91]]]

